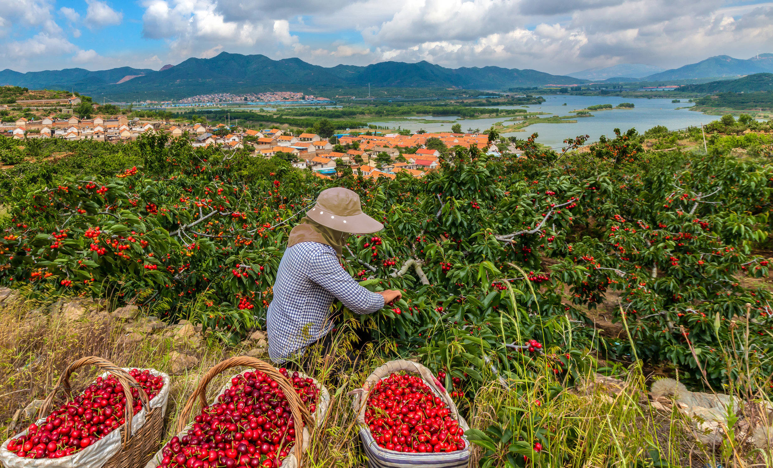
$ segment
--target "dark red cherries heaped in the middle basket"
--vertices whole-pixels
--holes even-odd
[[[312,379],[295,372],[290,380],[309,409],[316,408]],[[281,465],[295,445],[288,400],[278,382],[261,371],[231,378],[230,388],[194,421],[186,435],[164,446],[160,468],[271,468]]]

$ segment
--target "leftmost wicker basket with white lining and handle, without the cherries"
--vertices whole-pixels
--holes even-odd
[[[130,368],[119,368],[103,358],[89,356],[80,358],[65,369],[40,407],[39,415],[41,418],[38,420],[38,424],[45,422],[46,416],[53,408],[53,399],[60,390],[63,390],[68,398],[73,398],[70,388],[70,375],[73,371],[83,366],[92,365],[104,371],[102,377],[112,374],[118,382],[121,382],[126,397],[124,414],[132,414],[134,401],[130,388],[131,386],[137,387],[138,383],[135,378],[129,375]],[[124,426],[118,430],[107,434],[80,452],[59,459],[21,458],[6,448],[9,441],[5,441],[0,448],[0,461],[7,468],[135,468],[144,465],[158,449],[158,443],[164,429],[166,404],[169,401],[169,375],[155,369],[148,369],[148,371],[153,375],[161,375],[164,387],[152,401],[148,401],[148,395],[145,395],[145,392],[139,392],[142,409],[133,418],[127,418]],[[16,434],[13,438],[24,434],[26,431]]]

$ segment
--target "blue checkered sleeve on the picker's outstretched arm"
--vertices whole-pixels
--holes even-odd
[[[349,310],[356,314],[373,314],[384,307],[384,298],[371,293],[349,276],[334,253],[320,252],[311,261],[308,277],[328,290]]]

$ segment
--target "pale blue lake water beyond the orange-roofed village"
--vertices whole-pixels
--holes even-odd
[[[572,115],[569,114],[570,110],[584,109],[588,106],[595,104],[612,104],[617,106],[619,103],[629,102],[634,103],[633,109],[612,109],[612,110],[596,110],[591,112],[594,117],[578,117],[576,124],[533,124],[529,127],[525,127],[524,131],[504,134],[505,136],[516,136],[521,139],[526,138],[527,135],[537,133],[536,141],[538,143],[547,144],[550,147],[560,147],[564,144],[564,140],[577,135],[590,135],[589,141],[598,141],[598,137],[606,135],[608,137],[614,136],[614,129],[619,128],[625,132],[629,128],[635,128],[639,132],[644,132],[649,128],[656,125],[664,125],[669,130],[677,130],[680,128],[686,128],[691,126],[698,126],[701,123],[708,124],[710,121],[718,120],[720,116],[706,115],[700,112],[694,112],[689,109],[676,109],[676,107],[688,107],[693,106],[693,103],[683,101],[681,103],[672,103],[671,99],[653,98],[653,99],[634,99],[634,98],[622,98],[622,97],[607,97],[607,96],[551,96],[543,95],[545,102],[540,105],[534,105],[529,107],[519,106],[493,106],[499,107],[499,109],[524,109],[527,112],[549,112],[556,115]],[[567,103],[563,106],[563,103]],[[417,117],[422,120],[457,120],[461,124],[461,128],[467,131],[468,128],[479,128],[485,130],[491,127],[495,122],[502,122],[509,117],[497,117],[493,119],[460,119],[456,116],[441,116],[441,117]],[[541,117],[548,117],[541,116]],[[383,125],[387,127],[397,127],[395,122],[376,122],[369,121],[369,124]],[[505,122],[505,124],[508,124]],[[407,128],[411,131],[417,131],[423,128],[426,131],[451,131],[451,125],[453,124],[427,124],[427,123],[412,123],[400,122],[400,126]]]

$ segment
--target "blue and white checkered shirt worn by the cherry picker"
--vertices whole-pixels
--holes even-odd
[[[268,307],[268,355],[281,363],[328,334],[330,306],[339,299],[352,312],[372,314],[384,307],[343,270],[335,249],[318,242],[288,247],[279,263],[274,300]]]

